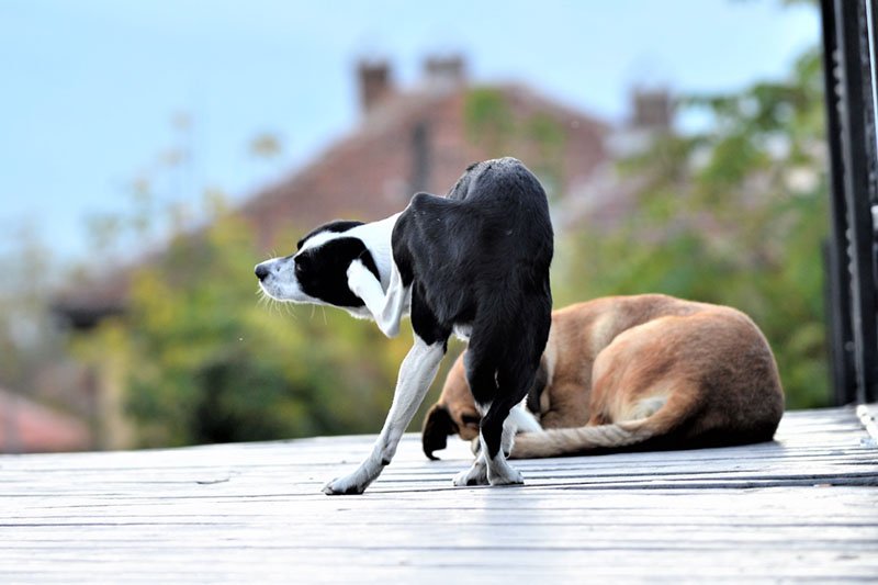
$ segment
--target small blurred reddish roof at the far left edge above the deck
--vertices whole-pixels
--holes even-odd
[[[0,453],[82,451],[91,446],[85,423],[0,389]]]

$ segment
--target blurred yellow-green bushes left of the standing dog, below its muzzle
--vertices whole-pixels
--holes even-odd
[[[248,226],[216,218],[138,269],[131,310],[76,341],[124,363],[142,446],[373,432],[408,339],[336,310],[259,302]]]

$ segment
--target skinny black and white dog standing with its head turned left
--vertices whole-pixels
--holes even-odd
[[[479,459],[454,484],[522,483],[506,462],[509,414],[533,382],[552,310],[553,233],[537,178],[514,158],[479,162],[444,198],[417,193],[386,220],[326,224],[297,248],[257,265],[269,296],[373,318],[389,337],[409,314],[415,331],[372,453],[324,492],[360,494],[391,462],[452,333],[469,339],[466,378],[483,415]]]

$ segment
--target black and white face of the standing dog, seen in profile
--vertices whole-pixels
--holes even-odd
[[[278,301],[334,305],[359,314],[363,302],[348,286],[348,267],[360,260],[381,279],[367,225],[336,221],[314,229],[299,240],[295,254],[256,266],[260,288]]]

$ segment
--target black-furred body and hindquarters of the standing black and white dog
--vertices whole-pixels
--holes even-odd
[[[553,232],[545,192],[518,160],[466,169],[447,196],[416,194],[393,230],[393,257],[412,285],[412,325],[428,344],[471,328],[466,376],[488,454],[531,387],[551,323]]]

